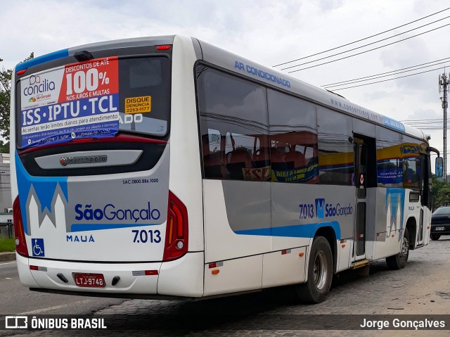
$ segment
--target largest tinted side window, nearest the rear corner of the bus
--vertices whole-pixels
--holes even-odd
[[[205,178],[269,180],[266,89],[200,65],[197,90]]]

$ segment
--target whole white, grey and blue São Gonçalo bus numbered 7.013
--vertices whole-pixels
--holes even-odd
[[[11,180],[34,291],[200,299],[294,285],[428,244],[418,129],[182,36],[20,63]],[[439,158],[440,159],[440,158]]]

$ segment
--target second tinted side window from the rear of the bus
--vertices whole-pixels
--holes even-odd
[[[316,106],[270,89],[267,97],[272,181],[319,182]]]

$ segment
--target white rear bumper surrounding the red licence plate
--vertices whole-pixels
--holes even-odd
[[[130,295],[164,295],[198,298],[203,296],[203,252],[187,253],[184,257],[170,262],[149,263],[85,263],[58,260],[41,260],[17,255],[20,281],[33,290],[67,293],[77,295],[105,295],[107,297],[129,298]],[[38,270],[30,270],[30,265]],[[143,271],[153,272],[145,275]],[[75,284],[73,274],[103,274],[105,287],[86,288]],[[62,274],[67,282],[58,274]],[[113,286],[113,278],[120,281]]]

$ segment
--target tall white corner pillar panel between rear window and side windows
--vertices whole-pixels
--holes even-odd
[[[189,251],[204,250],[202,170],[198,141],[192,39],[176,36],[172,58],[169,190],[188,209]]]

